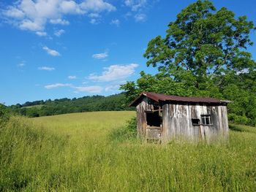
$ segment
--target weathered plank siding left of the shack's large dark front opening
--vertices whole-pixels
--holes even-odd
[[[152,104],[149,104],[150,99],[147,97],[143,98],[140,104],[137,105],[137,131],[138,134],[145,136],[146,135],[146,112],[145,110],[154,110]]]

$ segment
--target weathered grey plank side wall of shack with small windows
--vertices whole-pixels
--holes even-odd
[[[203,104],[164,104],[162,107],[163,131],[162,140],[225,138],[228,134],[227,107],[207,106]],[[192,118],[200,119],[201,115],[211,115],[211,126],[193,126]]]

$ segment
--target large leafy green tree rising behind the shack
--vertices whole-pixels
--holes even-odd
[[[247,103],[255,102],[256,64],[246,51],[252,45],[249,34],[253,30],[254,23],[246,16],[236,18],[225,7],[217,10],[211,1],[196,1],[169,23],[165,37],[148,42],[146,64],[157,67],[159,73],[141,72],[137,82],[121,88],[132,100],[142,91],[230,99],[228,90],[236,87],[246,92],[238,91],[239,98],[252,96]],[[235,113],[246,116],[244,111]]]

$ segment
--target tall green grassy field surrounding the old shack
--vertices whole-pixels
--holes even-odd
[[[256,128],[231,125],[226,145],[154,145],[122,135],[133,116],[12,118],[0,128],[0,191],[255,191]]]

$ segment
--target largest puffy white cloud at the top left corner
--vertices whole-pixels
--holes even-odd
[[[113,12],[105,0],[19,0],[4,9],[3,15],[22,30],[44,31],[47,23],[68,25],[65,15],[88,15]],[[94,18],[95,19],[95,18]]]

